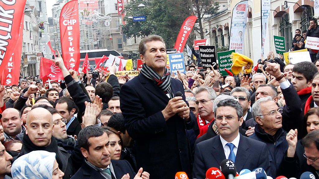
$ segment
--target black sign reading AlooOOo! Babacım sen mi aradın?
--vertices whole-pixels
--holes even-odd
[[[218,69],[215,46],[199,46],[199,55],[204,69],[211,68],[211,66],[215,70]]]

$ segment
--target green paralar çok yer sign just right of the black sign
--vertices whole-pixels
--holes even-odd
[[[228,75],[224,68],[226,68],[229,71],[232,71],[233,59],[230,58],[230,55],[233,52],[235,52],[235,50],[217,52],[219,73],[221,73],[222,76]]]

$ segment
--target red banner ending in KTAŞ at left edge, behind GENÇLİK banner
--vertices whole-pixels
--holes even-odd
[[[20,22],[19,38],[15,46],[15,51],[9,59],[6,68],[1,75],[1,85],[12,86],[14,84],[19,84],[19,71],[21,64],[21,53],[22,53],[22,43],[23,43],[23,24],[24,24],[24,13]]]

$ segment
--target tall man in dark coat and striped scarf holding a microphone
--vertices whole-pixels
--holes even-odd
[[[157,178],[174,178],[184,171],[190,177],[191,151],[186,129],[195,124],[182,83],[170,77],[166,68],[164,40],[158,35],[139,45],[143,68],[120,90],[125,128],[136,141],[137,168]],[[182,97],[174,94],[180,91]]]

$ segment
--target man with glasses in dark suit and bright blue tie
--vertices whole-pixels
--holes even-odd
[[[243,123],[241,104],[234,99],[224,99],[217,104],[214,113],[220,135],[195,146],[193,178],[205,179],[206,171],[211,167],[219,168],[225,159],[234,161],[237,171],[262,167],[270,173],[266,144],[239,133]]]

